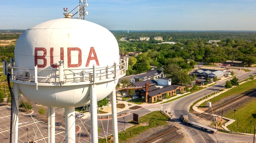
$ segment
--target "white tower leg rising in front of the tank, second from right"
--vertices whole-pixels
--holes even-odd
[[[92,143],[98,142],[98,120],[97,120],[97,90],[96,84],[90,85],[90,107],[91,107],[91,131]]]

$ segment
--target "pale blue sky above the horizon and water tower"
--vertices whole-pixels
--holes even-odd
[[[256,30],[256,0],[87,0],[86,20],[109,30]],[[1,0],[0,29],[63,18],[79,0]]]

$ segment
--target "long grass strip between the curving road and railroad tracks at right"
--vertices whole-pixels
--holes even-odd
[[[240,86],[237,86],[235,88],[230,89],[229,91],[224,92],[223,94],[220,94],[216,96],[215,98],[210,99],[209,101],[213,104],[218,102],[219,100],[228,97],[230,95],[240,95],[245,92],[251,91],[251,89],[256,87],[256,80],[246,82],[244,84],[241,84]],[[201,99],[200,99],[201,100]],[[198,107],[206,106],[206,103],[203,102]]]

